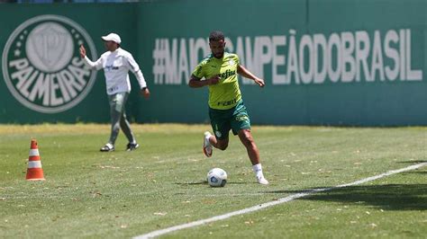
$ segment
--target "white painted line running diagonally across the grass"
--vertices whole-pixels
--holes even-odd
[[[223,215],[219,215],[219,216],[215,216],[215,217],[209,217],[209,218],[206,218],[206,219],[202,219],[202,220],[198,220],[198,221],[194,221],[194,222],[190,222],[190,223],[186,223],[186,224],[182,224],[182,225],[171,226],[171,227],[160,229],[160,230],[157,230],[157,231],[152,231],[152,232],[150,232],[148,234],[137,235],[137,236],[135,236],[133,238],[134,239],[146,239],[146,238],[153,238],[153,237],[156,237],[156,236],[159,236],[159,235],[166,235],[168,233],[175,232],[175,231],[178,231],[178,230],[182,230],[182,229],[186,229],[186,228],[190,228],[190,227],[195,227],[195,226],[201,226],[201,225],[204,225],[204,224],[208,224],[208,223],[212,223],[212,222],[224,220],[224,219],[227,219],[227,218],[230,218],[230,217],[234,217],[234,216],[238,216],[238,215],[242,215],[242,214],[247,214],[247,213],[250,213],[250,212],[258,211],[260,209],[270,208],[270,207],[273,207],[273,206],[276,206],[276,205],[279,205],[279,204],[282,204],[282,203],[286,203],[286,202],[289,202],[289,201],[292,201],[292,200],[295,200],[295,199],[301,199],[301,198],[310,196],[310,195],[315,194],[317,192],[328,191],[328,190],[335,190],[335,189],[345,188],[345,187],[349,187],[349,186],[359,185],[359,184],[362,184],[362,183],[365,183],[365,182],[368,182],[368,181],[375,181],[377,179],[384,178],[386,176],[393,175],[395,173],[404,173],[406,171],[415,170],[415,169],[421,168],[423,166],[427,166],[427,163],[413,164],[411,166],[408,166],[408,167],[405,167],[405,168],[402,168],[402,169],[392,170],[392,171],[389,171],[389,172],[386,172],[386,173],[378,174],[376,176],[368,177],[368,178],[365,178],[365,179],[361,179],[359,181],[353,181],[353,182],[346,183],[346,184],[341,184],[341,185],[338,185],[338,186],[335,186],[335,187],[331,187],[331,188],[314,189],[314,190],[307,190],[307,191],[301,192],[301,193],[295,193],[295,194],[292,194],[290,196],[287,196],[286,198],[281,198],[281,199],[277,199],[275,201],[270,201],[270,202],[267,202],[267,203],[259,204],[257,206],[253,206],[251,208],[244,208],[244,209],[241,209],[241,210],[238,210],[238,211],[229,212],[229,213],[226,213],[226,214],[223,214]]]

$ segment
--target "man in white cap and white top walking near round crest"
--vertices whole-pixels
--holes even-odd
[[[108,143],[101,147],[101,152],[114,151],[114,143],[120,128],[122,128],[124,135],[129,140],[126,151],[132,151],[140,145],[138,145],[133,136],[131,125],[126,119],[124,110],[124,105],[131,92],[128,72],[132,71],[136,76],[140,84],[141,94],[146,99],[150,97],[150,91],[147,88],[147,83],[142,75],[140,66],[135,62],[132,54],[120,47],[122,42],[120,36],[110,33],[103,36],[102,40],[104,40],[107,51],[95,62],[87,58],[85,47],[83,45],[80,46],[80,57],[84,59],[86,66],[96,70],[104,68],[106,93],[108,94],[108,101],[110,103],[111,135]]]

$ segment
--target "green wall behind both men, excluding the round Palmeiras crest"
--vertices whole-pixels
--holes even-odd
[[[197,123],[208,121],[207,88],[189,88],[187,76],[209,53],[209,32],[221,30],[229,50],[266,81],[259,89],[241,79],[252,123],[426,125],[426,10],[421,0],[3,4],[0,42],[40,14],[80,24],[98,55],[104,52],[99,37],[115,31],[140,63],[152,93],[145,101],[132,92],[127,105],[132,120]],[[24,107],[0,81],[7,102],[0,106],[0,122],[107,122],[102,71],[96,78],[82,102],[50,114]]]

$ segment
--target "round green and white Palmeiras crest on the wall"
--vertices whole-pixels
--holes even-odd
[[[94,42],[77,22],[59,15],[23,22],[3,50],[3,76],[14,98],[42,113],[67,111],[85,99],[96,72],[84,65],[80,44],[97,57]]]

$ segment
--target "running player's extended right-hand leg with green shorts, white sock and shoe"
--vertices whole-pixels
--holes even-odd
[[[262,173],[258,146],[255,144],[252,134],[250,133],[250,118],[242,102],[236,106],[236,111],[232,117],[232,133],[234,135],[239,135],[241,143],[246,147],[250,163],[252,163],[252,169],[258,182],[264,185],[268,184],[268,181],[264,177],[264,173]]]

